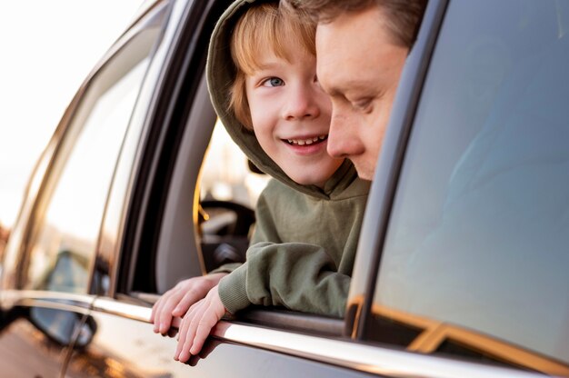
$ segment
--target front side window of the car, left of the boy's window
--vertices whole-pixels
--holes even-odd
[[[88,84],[41,194],[25,288],[87,292],[106,196],[157,35],[135,35]]]

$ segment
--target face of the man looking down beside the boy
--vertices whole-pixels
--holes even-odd
[[[371,180],[408,49],[395,45],[373,6],[316,29],[317,74],[332,99],[328,154]]]

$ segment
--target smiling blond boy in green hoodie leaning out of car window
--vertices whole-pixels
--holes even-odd
[[[326,153],[331,104],[316,79],[314,23],[277,2],[251,3],[235,2],[216,25],[207,78],[228,133],[275,179],[259,198],[246,263],[187,280],[155,304],[155,323],[187,310],[181,362],[226,311],[262,304],[343,316],[364,213],[369,184]]]

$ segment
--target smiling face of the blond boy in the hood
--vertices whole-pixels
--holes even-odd
[[[265,153],[291,179],[323,187],[344,161],[326,152],[332,106],[316,80],[314,55],[291,46],[292,62],[267,51],[261,68],[246,76],[253,129]]]

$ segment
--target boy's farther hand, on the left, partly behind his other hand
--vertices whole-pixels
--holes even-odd
[[[226,273],[194,277],[176,284],[162,295],[152,307],[150,322],[155,324],[155,333],[166,334],[174,317],[182,317],[190,306],[205,297]]]

